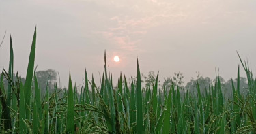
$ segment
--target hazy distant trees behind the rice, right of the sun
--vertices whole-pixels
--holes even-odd
[[[209,88],[212,86],[212,84],[215,84],[216,78],[214,80],[211,80],[209,77],[201,76],[199,72],[196,72],[196,73],[197,73],[197,78],[191,78],[191,80],[188,83],[186,83],[186,85],[183,80],[184,78],[183,74],[178,72],[178,73],[174,73],[173,76],[164,78],[164,82],[162,82],[162,84],[159,84],[158,87],[161,86],[162,89],[165,88],[169,90],[169,88],[171,88],[171,84],[175,84],[180,87],[181,93],[186,92],[186,90],[190,90],[190,93],[197,93],[197,82],[198,82],[201,93],[205,93],[205,91],[209,92]],[[149,71],[147,76],[143,74],[141,76],[142,76],[141,78],[143,79],[142,81],[145,83],[145,86],[152,85],[156,81],[156,75],[154,71]],[[232,95],[231,78],[227,80],[227,82],[221,76],[219,76],[219,79],[222,85],[221,88],[225,96],[231,97]],[[235,85],[235,87],[237,85],[237,82],[238,82],[237,78],[233,79],[233,84]],[[247,79],[240,76],[240,92],[242,94],[246,94],[247,89],[248,89]]]

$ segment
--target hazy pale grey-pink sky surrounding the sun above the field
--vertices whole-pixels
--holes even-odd
[[[196,71],[214,79],[216,69],[228,80],[236,78],[237,51],[256,69],[255,6],[253,0],[0,0],[0,39],[7,31],[0,69],[8,69],[12,35],[14,72],[25,77],[36,26],[37,70],[58,71],[62,86],[69,71],[81,84],[85,69],[99,82],[104,50],[114,82],[120,72],[136,76],[137,56],[141,72],[159,71],[161,82],[179,71],[185,82]]]

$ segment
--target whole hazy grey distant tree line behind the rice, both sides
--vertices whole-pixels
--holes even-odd
[[[46,89],[48,88],[50,93],[53,93],[55,89],[56,80],[57,80],[57,71],[53,69],[47,69],[42,71],[36,71],[36,76],[38,78],[38,84],[40,86],[41,95],[44,97]],[[171,84],[178,85],[180,87],[181,93],[185,93],[186,90],[190,90],[190,93],[197,93],[197,82],[201,89],[201,93],[208,92],[209,87],[216,82],[216,79],[211,80],[209,77],[203,77],[200,75],[199,72],[197,73],[197,78],[191,78],[190,82],[184,82],[184,76],[182,73],[174,73],[173,76],[164,78],[162,84],[158,80],[158,88],[165,88],[169,90],[171,88]],[[156,75],[154,71],[149,71],[147,76],[141,73],[141,83],[144,85],[143,88],[145,89],[147,86],[152,88],[152,85],[156,82]],[[0,74],[1,76],[1,74]],[[225,93],[226,97],[230,97],[232,93],[232,82],[231,79],[225,82],[224,78],[221,76],[219,77],[222,85],[223,93]],[[16,75],[13,76],[14,82],[16,81]],[[133,79],[133,82],[136,82],[136,78],[130,78],[128,81],[130,82]],[[25,82],[25,78],[20,78],[21,82]],[[3,82],[5,85],[5,89],[7,89],[8,81],[5,77],[3,77]],[[233,80],[233,84],[237,85],[237,78]],[[57,88],[57,87],[56,87]],[[59,88],[59,87],[58,87]],[[244,77],[240,77],[240,92],[246,93],[246,89],[248,88],[247,79]]]

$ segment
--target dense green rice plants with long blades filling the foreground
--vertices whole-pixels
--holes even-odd
[[[223,94],[216,80],[208,86],[196,85],[196,92],[172,81],[158,86],[158,74],[152,84],[141,86],[137,60],[137,78],[130,84],[120,75],[113,88],[112,76],[105,65],[101,85],[87,77],[78,93],[69,77],[68,89],[41,97],[34,72],[36,30],[33,36],[25,82],[13,72],[12,39],[10,64],[0,78],[1,133],[256,133],[256,80],[248,63],[248,88],[240,92],[240,69],[236,84],[231,80],[231,97]],[[3,78],[8,80],[5,88]],[[46,82],[48,83],[48,82]],[[168,84],[167,84],[168,85]],[[60,93],[63,92],[62,95]],[[182,95],[181,95],[182,92]]]

